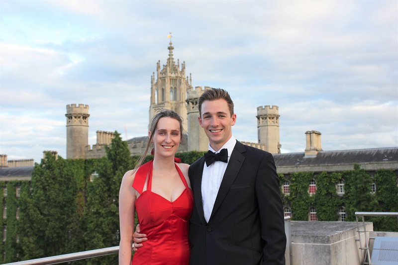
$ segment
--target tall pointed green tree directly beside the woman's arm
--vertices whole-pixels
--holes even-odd
[[[99,176],[88,185],[88,249],[118,246],[120,241],[119,189],[124,173],[131,169],[131,158],[127,143],[117,131],[105,150],[106,158],[96,169]],[[117,264],[117,255],[90,259],[87,264]]]

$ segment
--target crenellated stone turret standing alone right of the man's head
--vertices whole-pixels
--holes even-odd
[[[279,143],[279,108],[278,106],[257,107],[258,142],[265,144],[271,154],[281,153]]]

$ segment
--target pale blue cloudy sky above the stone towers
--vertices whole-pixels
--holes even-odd
[[[1,0],[0,154],[66,158],[66,105],[96,131],[147,134],[150,77],[185,61],[193,86],[225,88],[234,136],[257,142],[277,105],[282,153],[398,146],[396,0]]]

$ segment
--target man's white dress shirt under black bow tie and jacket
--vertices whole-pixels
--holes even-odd
[[[208,150],[214,153],[218,153],[221,149],[226,148],[228,150],[228,162],[231,157],[232,150],[236,144],[235,137],[231,137],[217,152],[215,152],[210,144]],[[215,198],[217,197],[218,189],[220,188],[222,177],[224,177],[225,170],[227,169],[228,163],[221,161],[215,161],[213,164],[207,167],[204,163],[203,175],[202,175],[202,204],[204,219],[206,222],[210,219],[211,211],[213,210]]]

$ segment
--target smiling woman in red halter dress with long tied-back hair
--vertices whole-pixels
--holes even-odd
[[[176,164],[174,159],[182,139],[182,119],[176,112],[163,110],[153,117],[146,150],[120,186],[119,265],[131,263],[135,210],[148,241],[135,253],[132,264],[189,264],[193,193],[189,165]],[[152,143],[154,159],[141,165]]]

